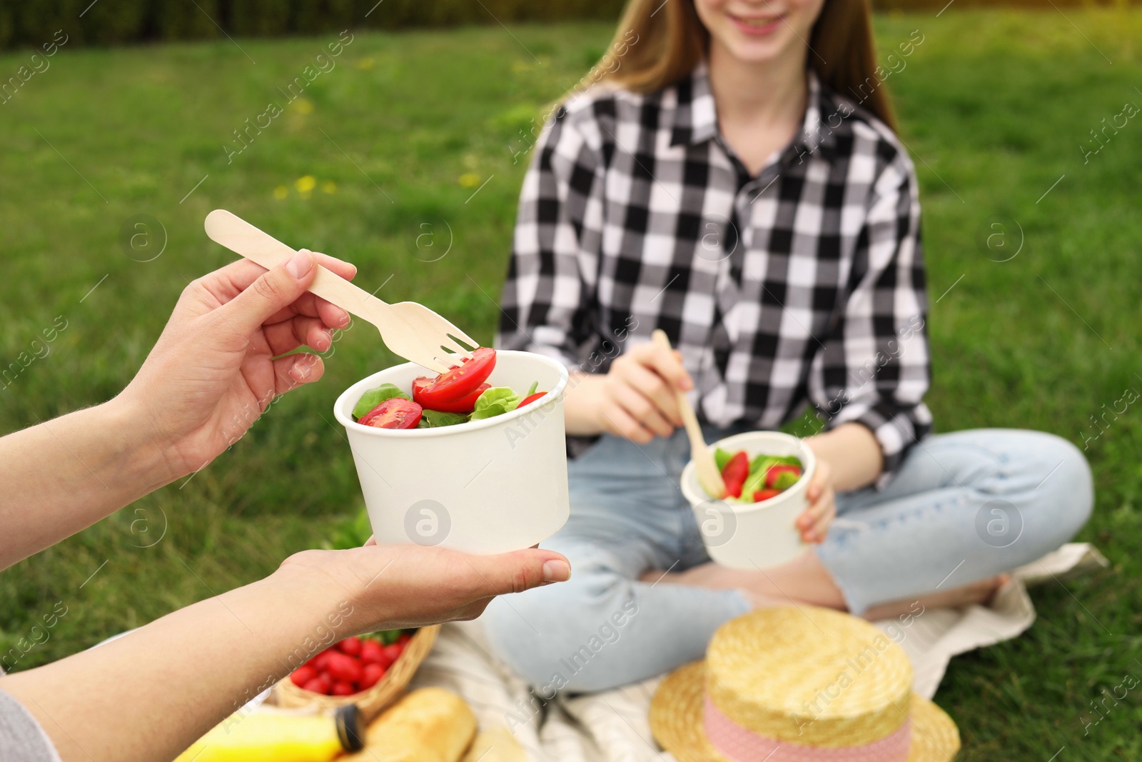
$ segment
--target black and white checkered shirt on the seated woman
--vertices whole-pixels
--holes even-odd
[[[705,66],[598,87],[545,126],[523,183],[498,344],[603,372],[662,328],[716,425],[855,420],[886,470],[931,430],[915,169],[811,75],[802,134],[756,177]]]

